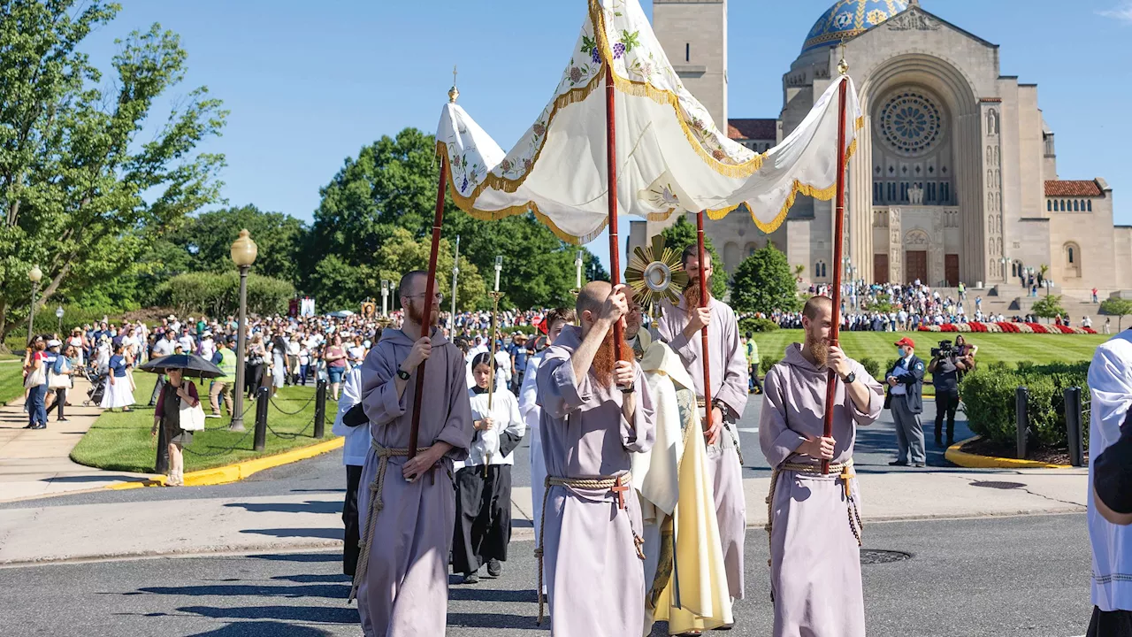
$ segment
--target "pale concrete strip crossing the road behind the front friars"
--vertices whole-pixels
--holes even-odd
[[[762,542],[770,476],[744,481],[749,542]],[[866,523],[1080,512],[1087,473],[966,470],[863,474]],[[531,540],[531,490],[513,493],[514,540]],[[342,538],[337,494],[281,494],[0,511],[0,564],[128,557],[302,550]],[[867,533],[867,529],[866,529]]]

